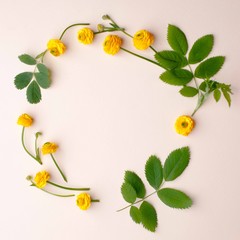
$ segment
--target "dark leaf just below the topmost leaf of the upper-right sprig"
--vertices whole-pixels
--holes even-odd
[[[185,67],[187,59],[175,51],[161,51],[155,54],[155,59],[165,69],[175,69]]]

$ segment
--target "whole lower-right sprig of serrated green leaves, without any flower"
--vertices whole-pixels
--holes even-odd
[[[183,173],[189,161],[189,147],[172,151],[164,166],[157,156],[150,156],[145,164],[145,177],[150,186],[154,188],[154,192],[148,195],[146,195],[142,179],[135,172],[126,171],[121,193],[124,200],[130,205],[119,209],[118,212],[130,208],[129,213],[135,223],[142,224],[147,230],[155,232],[158,225],[157,211],[151,203],[146,201],[147,198],[157,194],[158,198],[171,208],[186,209],[191,207],[192,200],[187,194],[174,188],[163,188],[165,182],[171,182]],[[140,206],[135,206],[137,204]]]

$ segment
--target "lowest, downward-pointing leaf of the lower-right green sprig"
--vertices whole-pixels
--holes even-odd
[[[142,202],[139,208],[142,216],[142,224],[147,230],[155,232],[157,228],[157,212],[155,208],[148,202]]]

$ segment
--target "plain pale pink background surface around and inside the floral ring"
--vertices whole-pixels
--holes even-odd
[[[13,239],[240,239],[240,92],[238,0],[2,1],[0,25],[1,109],[1,204],[0,237]],[[180,96],[179,88],[159,80],[162,69],[127,53],[109,56],[102,50],[105,35],[90,46],[76,38],[79,28],[64,37],[68,51],[59,58],[46,55],[52,86],[44,90],[38,105],[26,101],[25,91],[15,89],[14,76],[32,70],[18,55],[37,55],[51,38],[59,37],[72,23],[90,22],[96,29],[111,15],[131,34],[148,29],[154,47],[168,49],[167,25],[179,26],[189,44],[206,34],[215,36],[211,56],[224,55],[226,62],[216,79],[232,85],[228,108],[223,99],[208,102],[195,116],[196,127],[188,137],[175,133],[173,124],[191,114],[196,99]],[[131,41],[124,46],[132,49]],[[140,52],[152,56],[152,52]],[[80,211],[75,198],[63,199],[29,187],[25,177],[47,169],[52,181],[64,184],[50,157],[40,166],[26,155],[20,143],[20,114],[35,119],[26,131],[32,150],[34,133],[60,146],[55,157],[71,186],[91,187],[101,203]],[[159,226],[151,233],[132,222],[120,193],[124,171],[144,179],[144,164],[156,154],[165,161],[174,149],[189,146],[191,162],[176,181],[169,183],[188,193],[194,205],[173,210],[152,196]],[[145,180],[144,180],[145,181]],[[152,190],[147,186],[147,191]]]

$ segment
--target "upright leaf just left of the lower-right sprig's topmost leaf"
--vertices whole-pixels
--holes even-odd
[[[145,176],[154,189],[159,189],[163,180],[161,161],[156,156],[151,156],[145,165]]]

